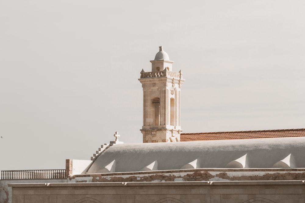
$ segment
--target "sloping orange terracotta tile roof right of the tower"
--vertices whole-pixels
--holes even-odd
[[[180,141],[205,141],[205,140],[235,140],[235,139],[259,139],[259,138],[286,138],[305,137],[305,128],[260,130],[260,131],[231,131],[231,132],[199,132],[181,133]]]

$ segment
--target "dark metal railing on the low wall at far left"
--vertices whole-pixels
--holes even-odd
[[[2,170],[1,180],[30,180],[30,179],[64,179],[65,169],[50,170]]]

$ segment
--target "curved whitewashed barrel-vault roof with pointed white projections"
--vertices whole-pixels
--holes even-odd
[[[87,173],[272,168],[283,160],[290,168],[305,168],[304,137],[117,144],[102,152]]]

